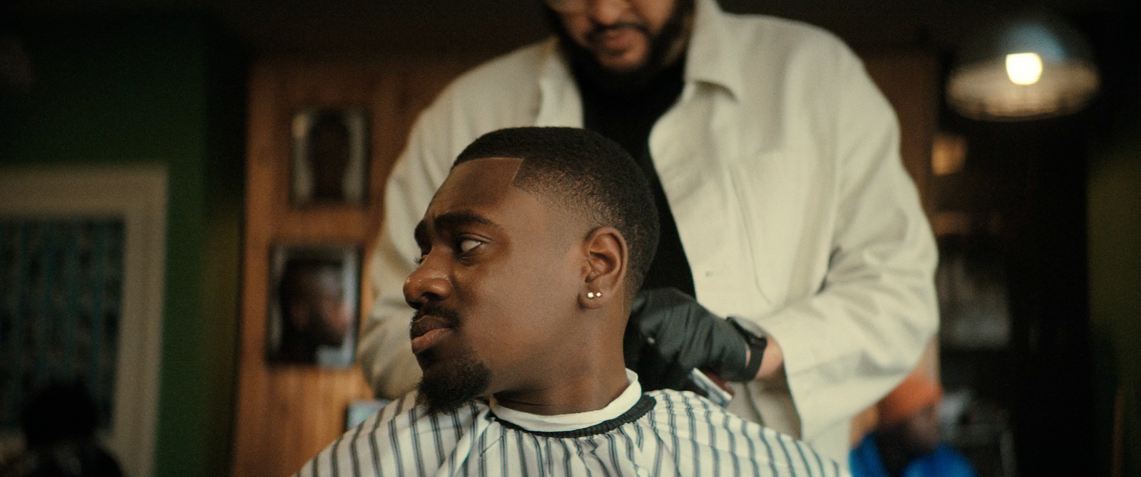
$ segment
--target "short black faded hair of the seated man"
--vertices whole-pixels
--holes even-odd
[[[590,230],[612,225],[626,239],[626,285],[641,287],[657,250],[657,207],[641,168],[622,146],[575,128],[511,128],[469,145],[452,167],[488,157],[523,159],[512,186],[577,214]]]

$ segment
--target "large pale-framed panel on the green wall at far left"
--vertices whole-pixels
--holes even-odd
[[[62,340],[51,335],[25,340],[34,345],[24,347],[23,357],[17,357],[9,353],[17,352],[14,340],[23,340],[19,330],[48,327],[10,327],[15,332],[0,339],[0,376],[8,377],[8,384],[83,378],[99,420],[105,421],[96,437],[124,475],[139,477],[154,470],[157,438],[168,184],[165,166],[33,167],[0,175],[0,222],[8,229],[0,233],[6,237],[0,248],[8,249],[0,255],[16,258],[0,260],[0,270],[13,280],[6,285],[24,283],[0,288],[5,291],[0,302],[9,312],[29,311],[37,307],[13,305],[38,297],[38,303],[47,304],[40,310],[49,314],[22,319],[68,331]],[[29,246],[13,247],[10,240]],[[38,240],[40,245],[31,246]],[[16,249],[56,258],[21,260],[23,253],[8,253]],[[29,265],[9,266],[15,262]],[[38,272],[32,262],[39,263]],[[44,280],[48,275],[56,279]],[[21,288],[23,293],[17,291]],[[66,296],[88,298],[68,301]],[[19,320],[18,314],[0,321]],[[92,348],[96,344],[98,349]],[[63,359],[57,359],[59,349]],[[46,375],[33,376],[40,372],[37,361],[50,363],[41,369]],[[29,396],[5,384],[0,384],[0,395],[8,405]],[[18,433],[0,430],[0,451],[18,449],[21,441]]]

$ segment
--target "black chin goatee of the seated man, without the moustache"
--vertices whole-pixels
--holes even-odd
[[[452,412],[487,393],[492,371],[468,349],[463,355],[437,363],[432,372],[420,380],[416,403],[428,406],[430,413]]]

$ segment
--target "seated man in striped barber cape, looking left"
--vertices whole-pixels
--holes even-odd
[[[477,139],[415,229],[419,389],[298,475],[843,475],[696,394],[641,393],[622,340],[657,230],[646,179],[601,135]]]

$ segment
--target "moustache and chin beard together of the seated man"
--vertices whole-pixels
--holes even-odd
[[[456,330],[462,326],[459,313],[436,304],[426,304],[418,310],[413,323],[426,314],[446,320],[447,326]],[[421,365],[430,363],[434,370],[424,370],[416,394],[416,403],[427,405],[430,413],[452,412],[487,393],[492,371],[470,347],[447,361],[438,360],[432,349],[426,349],[418,360],[421,360]]]

